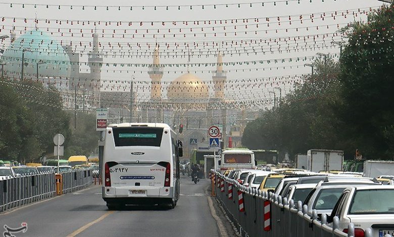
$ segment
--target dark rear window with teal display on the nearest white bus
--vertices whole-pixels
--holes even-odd
[[[160,147],[163,128],[113,128],[115,146],[158,146]]]

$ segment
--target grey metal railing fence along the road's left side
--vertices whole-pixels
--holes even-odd
[[[86,188],[92,183],[90,169],[62,173],[63,194]],[[0,212],[56,196],[55,173],[7,177],[0,180]]]

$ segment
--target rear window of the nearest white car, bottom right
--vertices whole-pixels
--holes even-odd
[[[394,214],[394,190],[371,189],[356,191],[349,214]]]

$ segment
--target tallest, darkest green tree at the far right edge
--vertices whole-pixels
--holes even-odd
[[[394,156],[393,10],[383,6],[347,28],[340,57],[343,133],[369,158]]]

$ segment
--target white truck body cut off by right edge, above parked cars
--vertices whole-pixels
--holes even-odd
[[[364,161],[363,176],[378,177],[380,175],[394,175],[394,161],[391,160]]]

